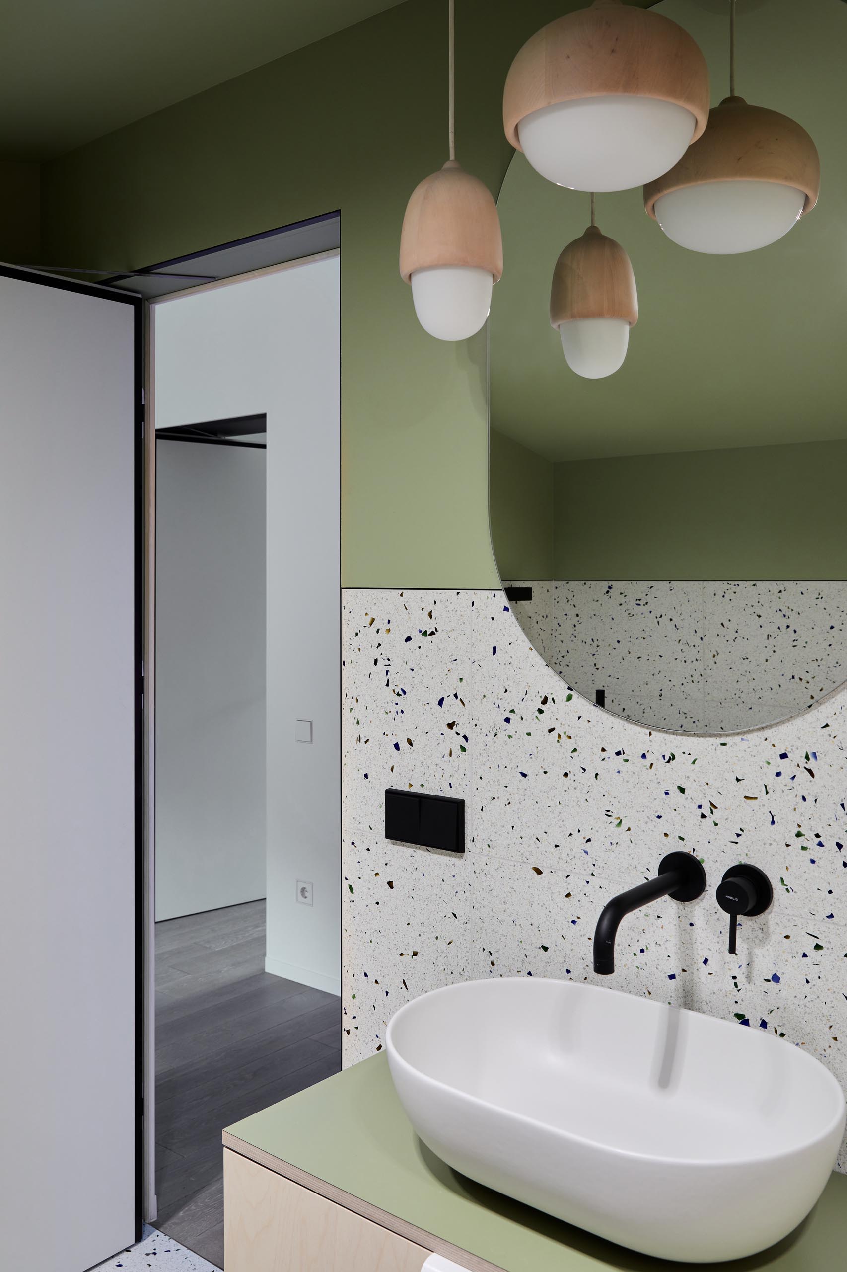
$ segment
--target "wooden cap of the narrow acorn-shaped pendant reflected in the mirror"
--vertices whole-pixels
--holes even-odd
[[[619,243],[589,225],[556,262],[549,296],[551,326],[580,318],[638,321],[638,293],[630,257]]]

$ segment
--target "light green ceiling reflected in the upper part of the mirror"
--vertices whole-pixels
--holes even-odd
[[[726,95],[727,23],[694,0],[656,5],[694,36]],[[640,318],[623,368],[582,380],[549,326],[549,281],[589,196],[516,154],[499,201],[505,272],[490,321],[492,427],[551,459],[847,438],[847,6],[768,0],[738,15],[738,92],[792,116],[822,160],[818,207],[744,256],[677,247],[640,190],[600,195],[600,229],[632,259]]]

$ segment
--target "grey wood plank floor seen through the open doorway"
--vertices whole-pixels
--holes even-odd
[[[341,1068],[341,1004],[265,972],[265,902],[156,923],[156,1227],[224,1267],[221,1131]]]

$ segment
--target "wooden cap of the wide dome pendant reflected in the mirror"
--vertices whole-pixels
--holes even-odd
[[[644,187],[645,210],[656,219],[656,200],[688,186],[715,181],[768,181],[802,191],[805,216],[818,202],[820,158],[795,120],[743,97],[727,97],[708,114],[708,127],[679,163]]]

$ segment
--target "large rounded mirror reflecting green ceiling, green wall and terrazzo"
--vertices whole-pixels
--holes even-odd
[[[666,0],[725,95],[726,22]],[[814,137],[818,207],[741,256],[677,247],[640,190],[596,200],[628,252],[640,319],[623,368],[584,380],[549,326],[553,266],[589,196],[521,154],[499,200],[490,319],[491,529],[513,604],[590,701],[713,734],[791,717],[847,678],[847,6],[738,15],[739,92]]]

